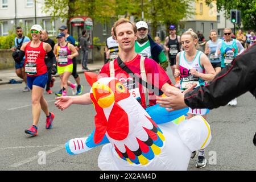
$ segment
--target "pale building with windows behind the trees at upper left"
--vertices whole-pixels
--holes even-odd
[[[25,34],[28,33],[32,24],[40,24],[43,29],[49,32],[50,37],[55,37],[59,32],[59,27],[66,24],[67,19],[55,18],[49,13],[43,12],[44,0],[0,0],[0,36],[9,35],[9,31],[15,32],[15,27],[23,28]],[[105,42],[111,35],[112,24],[93,24],[93,36]],[[74,28],[75,29],[75,28]],[[69,32],[72,35],[72,32]],[[81,35],[74,33],[74,37],[79,39]]]

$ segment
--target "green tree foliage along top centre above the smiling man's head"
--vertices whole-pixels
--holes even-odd
[[[50,12],[55,18],[70,19],[73,16],[90,16],[96,22],[108,22],[110,18],[118,19],[120,15],[134,20],[142,19],[151,23],[153,35],[159,23],[177,24],[181,19],[192,14],[189,2],[193,0],[45,0],[44,12]],[[142,6],[143,2],[143,6]],[[67,22],[68,25],[68,22]]]

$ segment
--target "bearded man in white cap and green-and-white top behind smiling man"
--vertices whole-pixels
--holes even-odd
[[[159,63],[160,66],[166,71],[168,67],[168,60],[163,52],[163,49],[152,40],[148,35],[148,26],[144,21],[136,23],[137,27],[137,40],[135,41],[135,52],[141,56],[151,58]]]

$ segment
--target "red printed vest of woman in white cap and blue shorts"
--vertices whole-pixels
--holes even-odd
[[[43,75],[47,72],[46,63],[44,62],[47,52],[44,50],[43,42],[41,42],[38,47],[31,47],[30,44],[31,42],[29,42],[25,47],[26,59],[24,61],[24,67],[27,76]]]

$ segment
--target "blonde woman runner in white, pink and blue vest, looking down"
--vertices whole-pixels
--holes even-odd
[[[186,31],[181,35],[181,44],[184,51],[176,56],[176,67],[174,76],[180,77],[180,89],[187,89],[189,86],[205,85],[205,81],[210,81],[216,75],[209,58],[201,51],[197,50],[198,39],[195,32]],[[189,108],[188,117],[202,115],[207,118],[208,109],[191,109]],[[204,157],[205,148],[199,150],[199,156],[196,167],[203,168],[207,160]],[[196,151],[192,152],[191,158],[194,158]]]

